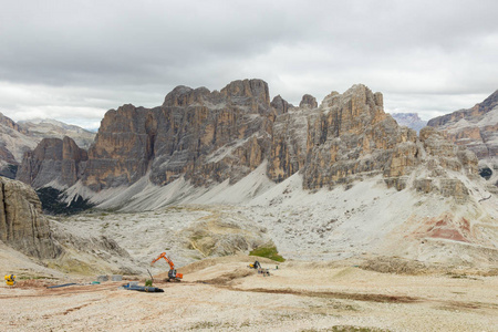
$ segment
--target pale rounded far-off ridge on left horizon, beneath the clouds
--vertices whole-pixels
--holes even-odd
[[[18,122],[19,126],[30,133],[30,136],[42,138],[71,137],[79,147],[87,149],[95,138],[95,133],[86,131],[75,125],[51,118],[34,118]]]

